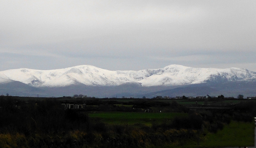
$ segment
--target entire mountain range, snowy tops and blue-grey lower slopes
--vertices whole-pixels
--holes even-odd
[[[206,93],[236,96],[255,95],[255,81],[256,73],[243,68],[169,65],[159,69],[110,71],[81,65],[55,70],[20,68],[0,71],[0,93],[19,96],[39,94],[47,97],[74,94],[96,97],[153,97]]]

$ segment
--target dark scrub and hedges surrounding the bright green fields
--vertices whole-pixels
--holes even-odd
[[[256,116],[255,101],[225,104],[225,109],[194,110],[170,99],[69,99],[0,96],[0,147],[113,148],[157,147],[165,144],[182,146],[188,139],[196,141],[198,135],[204,139],[208,132],[216,133],[222,130],[232,120],[252,122],[252,117]],[[220,96],[207,99],[209,102],[219,102],[228,98]],[[193,101],[206,100],[197,98]],[[64,109],[61,103],[86,104],[86,108]],[[193,106],[214,105],[204,103]],[[223,107],[223,104],[220,106]],[[160,114],[160,110],[164,113],[186,113],[187,116],[176,116],[161,122],[148,120],[151,126],[140,122],[132,125],[108,124],[99,118],[88,116],[101,112]]]

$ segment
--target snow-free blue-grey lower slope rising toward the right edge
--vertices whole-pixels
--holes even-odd
[[[148,98],[153,98],[156,96],[230,96],[237,97],[239,94],[244,96],[255,96],[256,95],[256,81],[227,81],[224,83],[214,83],[214,84],[190,84],[186,86],[179,86],[177,88],[167,88],[160,91],[138,94],[138,97],[146,96]]]

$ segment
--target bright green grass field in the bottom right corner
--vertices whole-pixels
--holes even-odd
[[[182,147],[196,148],[196,147],[244,147],[254,146],[254,129],[253,123],[244,123],[232,121],[226,124],[222,130],[217,133],[207,133],[206,136],[201,135],[199,146],[197,141],[189,141]]]

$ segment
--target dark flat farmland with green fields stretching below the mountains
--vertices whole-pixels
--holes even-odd
[[[86,105],[69,109],[63,104]],[[1,96],[0,147],[250,146],[255,105],[255,100],[226,98]]]

